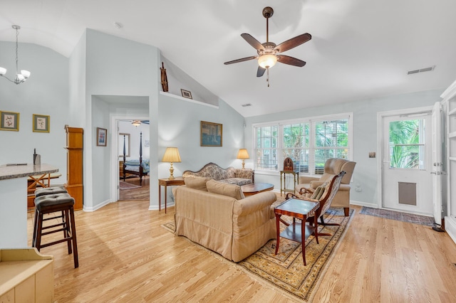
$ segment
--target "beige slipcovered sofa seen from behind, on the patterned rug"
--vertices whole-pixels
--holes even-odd
[[[276,238],[271,204],[276,194],[267,191],[244,198],[240,186],[208,178],[185,178],[175,194],[175,234],[239,262]]]

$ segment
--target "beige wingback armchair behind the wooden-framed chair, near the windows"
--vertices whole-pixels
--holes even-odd
[[[333,207],[343,207],[345,216],[348,216],[350,211],[350,180],[353,170],[355,169],[356,162],[348,161],[346,159],[331,158],[326,160],[323,175],[320,178],[311,176],[299,176],[298,184],[295,187],[295,193],[299,193],[302,188],[310,188],[315,190],[326,181],[330,181],[333,176],[336,176],[341,171],[346,174],[342,177],[341,186],[333,199]]]

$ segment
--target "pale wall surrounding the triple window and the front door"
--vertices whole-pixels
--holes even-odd
[[[375,151],[377,155],[380,154],[377,149],[377,112],[434,105],[435,102],[441,100],[440,94],[442,91],[443,89],[413,92],[339,105],[278,112],[274,115],[249,117],[246,118],[245,146],[249,149],[249,154],[252,155],[252,124],[254,123],[353,112],[353,161],[356,161],[356,167],[351,183],[350,198],[352,203],[377,207],[377,184],[380,181],[377,179],[377,159],[368,157],[369,151]],[[253,161],[254,159],[252,158],[247,159],[246,167],[252,168]],[[261,175],[256,172],[255,181],[274,184],[274,188],[280,190],[279,174]],[[354,187],[358,187],[360,191],[355,191]]]

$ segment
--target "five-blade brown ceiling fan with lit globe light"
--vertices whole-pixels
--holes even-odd
[[[258,59],[258,70],[257,70],[257,77],[261,77],[264,75],[264,72],[268,70],[268,78],[266,81],[268,82],[269,87],[269,68],[273,67],[277,62],[285,63],[288,65],[298,66],[302,68],[306,65],[306,62],[303,60],[299,60],[297,58],[290,57],[289,55],[281,55],[286,50],[290,50],[291,48],[296,48],[296,46],[300,46],[302,43],[305,43],[311,40],[312,36],[310,33],[303,33],[302,35],[296,36],[291,38],[285,42],[280,43],[278,46],[276,43],[269,42],[269,18],[274,14],[274,10],[266,6],[263,9],[263,16],[266,18],[266,42],[259,43],[257,39],[249,35],[248,33],[242,33],[241,36],[244,38],[247,43],[253,46],[256,50],[258,55],[252,55],[247,58],[241,58],[237,60],[232,60],[225,62],[225,65],[244,62],[248,60]]]

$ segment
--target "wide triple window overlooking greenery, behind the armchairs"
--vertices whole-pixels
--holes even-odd
[[[254,169],[279,171],[290,157],[301,174],[323,174],[327,159],[351,160],[353,115],[254,125]]]

